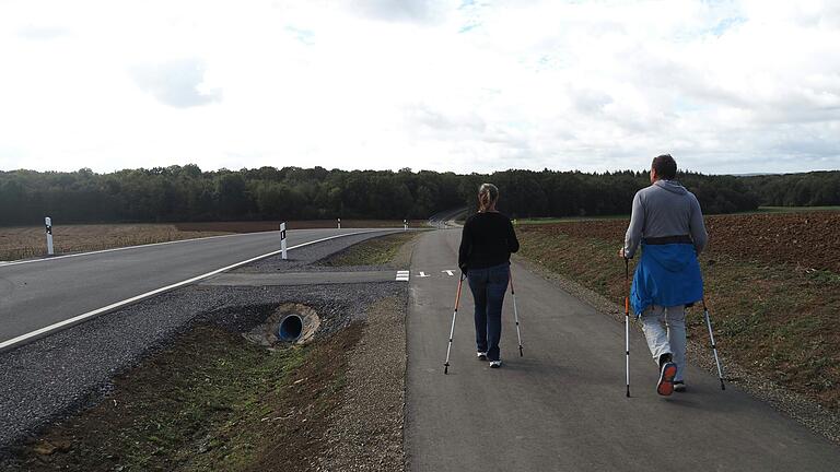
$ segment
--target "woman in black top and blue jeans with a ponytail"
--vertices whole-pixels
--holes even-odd
[[[511,252],[520,250],[511,220],[495,210],[498,201],[499,189],[481,184],[478,213],[464,223],[458,250],[458,267],[467,274],[476,302],[477,355],[490,361],[492,368],[502,366],[502,302],[511,278]]]

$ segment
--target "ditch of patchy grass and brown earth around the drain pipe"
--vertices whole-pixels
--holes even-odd
[[[269,351],[200,326],[118,376],[98,404],[21,446],[15,468],[308,470],[361,332],[354,323]]]

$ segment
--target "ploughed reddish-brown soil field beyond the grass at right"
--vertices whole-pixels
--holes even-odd
[[[629,220],[592,220],[545,225],[521,225],[520,231],[564,234],[616,241],[625,239]],[[731,256],[766,263],[840,274],[840,212],[712,215],[707,257]]]

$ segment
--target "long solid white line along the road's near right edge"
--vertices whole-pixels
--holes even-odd
[[[314,245],[314,244],[317,244],[317,243],[324,243],[326,240],[336,239],[336,238],[340,238],[340,237],[345,237],[345,236],[354,236],[354,235],[365,234],[365,233],[375,233],[377,231],[380,231],[380,229],[355,232],[355,233],[347,233],[347,234],[325,237],[325,238],[322,238],[322,239],[316,239],[316,240],[312,240],[312,241],[308,241],[308,243],[303,243],[303,244],[300,244],[298,246],[292,246],[292,247],[288,248],[287,250],[292,250],[292,249],[301,248],[301,247],[304,247],[304,246],[311,246],[311,245]],[[218,236],[218,237],[224,237],[224,236]],[[206,239],[206,238],[202,238],[202,239]],[[173,241],[173,243],[178,243],[178,241]],[[162,243],[162,244],[166,244],[166,243]],[[148,246],[152,246],[152,245],[148,245]],[[106,250],[106,251],[101,251],[101,252],[108,252],[108,251]],[[66,319],[63,321],[59,321],[59,322],[50,324],[48,327],[44,327],[44,328],[37,329],[35,331],[27,332],[25,334],[21,334],[21,335],[16,337],[16,338],[10,339],[9,341],[0,342],[0,352],[5,351],[7,349],[12,347],[12,346],[14,346],[16,344],[23,343],[23,342],[25,342],[25,341],[27,341],[27,340],[30,340],[32,338],[35,338],[35,337],[38,337],[38,335],[42,335],[42,334],[46,334],[46,333],[49,333],[50,331],[55,331],[55,330],[58,330],[60,328],[63,328],[63,327],[66,327],[68,324],[72,324],[72,323],[82,321],[82,320],[84,320],[86,318],[91,318],[91,317],[94,317],[96,315],[102,315],[102,314],[105,314],[107,311],[112,311],[114,309],[124,307],[124,306],[132,304],[135,302],[140,302],[140,300],[149,298],[151,296],[154,296],[154,295],[158,295],[158,294],[161,294],[161,293],[164,293],[164,292],[168,292],[171,290],[178,288],[178,287],[182,287],[184,285],[188,285],[188,284],[190,284],[192,282],[197,282],[197,281],[200,281],[202,279],[207,279],[207,278],[215,275],[218,273],[225,272],[225,271],[229,271],[231,269],[236,269],[237,267],[245,266],[245,264],[250,263],[250,262],[256,262],[256,261],[258,261],[260,259],[266,259],[266,258],[269,258],[271,256],[277,256],[280,252],[281,252],[281,250],[278,249],[276,251],[271,251],[271,252],[265,253],[262,256],[257,256],[255,258],[250,258],[250,259],[244,260],[242,262],[236,262],[234,264],[231,264],[231,266],[228,266],[228,267],[224,267],[224,268],[221,268],[221,269],[217,269],[217,270],[214,270],[212,272],[208,272],[206,274],[198,275],[198,276],[195,276],[192,279],[188,279],[188,280],[185,280],[185,281],[182,281],[182,282],[177,282],[177,283],[174,283],[172,285],[167,285],[165,287],[156,288],[156,290],[153,290],[151,292],[147,292],[144,294],[140,294],[140,295],[133,296],[131,298],[126,298],[124,300],[110,304],[108,306],[104,306],[102,308],[97,308],[95,310],[88,311],[85,314],[78,315],[78,316],[74,316],[72,318]],[[91,252],[86,252],[86,253],[91,253]],[[58,258],[51,258],[51,259],[58,259]]]

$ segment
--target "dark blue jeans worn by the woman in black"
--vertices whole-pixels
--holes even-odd
[[[499,361],[499,340],[502,338],[502,302],[511,278],[511,266],[505,262],[487,269],[469,269],[467,280],[476,300],[476,349],[486,352],[490,361]]]

